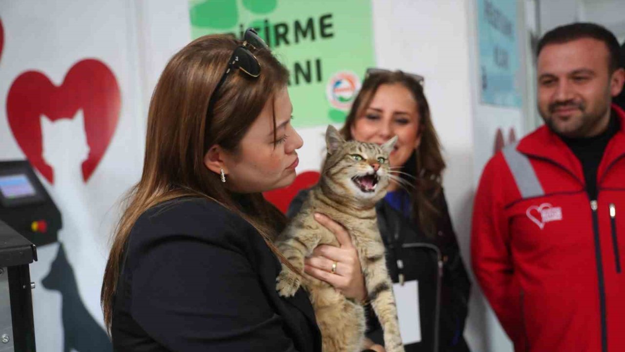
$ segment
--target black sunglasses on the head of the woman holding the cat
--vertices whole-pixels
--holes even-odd
[[[217,83],[215,90],[212,91],[211,98],[208,101],[208,108],[206,110],[207,118],[212,114],[212,106],[215,105],[217,91],[219,91],[219,88],[221,88],[226,81],[228,73],[238,68],[239,71],[253,78],[261,75],[261,65],[258,63],[258,60],[256,60],[256,56],[254,56],[248,48],[268,50],[269,46],[267,46],[265,41],[262,40],[253,28],[247,28],[245,34],[243,34],[243,44],[237,46],[232,52],[232,55],[228,60],[226,71],[224,71],[224,74],[221,75],[221,80]]]

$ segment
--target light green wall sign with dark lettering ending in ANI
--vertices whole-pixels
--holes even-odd
[[[364,0],[189,0],[193,38],[256,28],[289,69],[296,127],[345,120],[374,65],[371,3]]]

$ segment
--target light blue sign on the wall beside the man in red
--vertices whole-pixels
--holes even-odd
[[[477,0],[482,103],[521,107],[515,0]]]

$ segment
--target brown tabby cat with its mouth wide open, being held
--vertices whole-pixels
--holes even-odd
[[[388,156],[396,141],[394,137],[381,146],[345,142],[336,128],[328,126],[327,157],[321,179],[309,192],[299,214],[276,240],[284,257],[299,270],[294,273],[282,266],[276,289],[281,296],[294,295],[300,284],[307,289],[321,329],[324,352],[361,351],[366,317],[361,304],[303,272],[304,257],[317,245],[339,246],[334,234],[314,220],[314,212],[328,215],[349,231],[358,251],[369,300],[384,329],[386,351],[404,351],[375,209],[376,202],[386,194]]]

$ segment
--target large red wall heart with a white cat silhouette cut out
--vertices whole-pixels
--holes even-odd
[[[119,120],[121,96],[113,72],[101,61],[78,61],[65,76],[61,86],[41,72],[27,71],[13,81],[7,96],[6,112],[17,144],[31,165],[50,183],[54,171],[42,158],[41,115],[52,122],[74,118],[82,109],[89,156],[83,162],[83,180],[87,182],[113,138]]]

